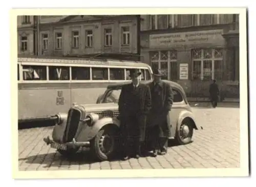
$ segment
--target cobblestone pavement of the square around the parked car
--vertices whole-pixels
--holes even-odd
[[[19,130],[19,171],[240,167],[239,108],[206,107],[193,111],[203,130],[194,131],[192,143],[177,146],[170,142],[164,156],[129,161],[96,162],[87,157],[68,160],[42,140],[53,127]]]

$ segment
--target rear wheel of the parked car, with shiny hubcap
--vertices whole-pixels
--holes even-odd
[[[185,119],[176,130],[176,141],[180,145],[185,145],[191,142],[193,137],[194,127],[190,120]],[[185,136],[186,135],[186,136]]]

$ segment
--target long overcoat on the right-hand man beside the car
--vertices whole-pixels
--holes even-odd
[[[160,136],[170,137],[169,111],[172,110],[173,105],[172,87],[163,81],[157,86],[154,82],[149,83],[148,86],[151,90],[152,109],[147,118],[147,125],[148,127],[160,125],[163,134]]]

